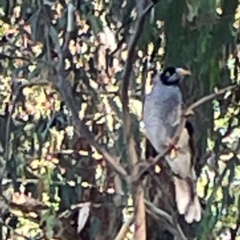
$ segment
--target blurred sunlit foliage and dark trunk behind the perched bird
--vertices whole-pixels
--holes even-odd
[[[128,178],[99,146],[130,174],[119,90],[139,14],[150,5],[128,76],[131,132],[143,163],[150,69],[190,69],[181,86],[186,104],[238,83],[239,1],[0,0],[1,239],[134,238]],[[66,88],[51,68],[61,62]],[[239,91],[228,92],[191,119],[202,221],[187,225],[177,216],[171,179],[155,169],[144,180],[155,208],[145,206],[142,239],[184,239],[179,228],[185,239],[240,239],[239,101]],[[94,137],[74,131],[78,116]]]

